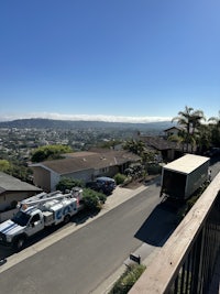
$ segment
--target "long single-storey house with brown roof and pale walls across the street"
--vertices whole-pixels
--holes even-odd
[[[64,154],[64,159],[31,164],[34,184],[45,192],[53,192],[62,177],[89,182],[98,176],[113,177],[141,157],[116,150],[94,150]]]

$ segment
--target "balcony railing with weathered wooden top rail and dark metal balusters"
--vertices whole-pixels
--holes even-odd
[[[220,255],[220,173],[186,215],[129,294],[216,294]],[[219,281],[218,281],[219,282]]]

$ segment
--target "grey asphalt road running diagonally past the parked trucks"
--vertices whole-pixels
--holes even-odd
[[[143,241],[161,246],[164,236],[156,233],[155,226],[158,228],[160,225],[152,222],[155,217],[160,219],[155,209],[160,203],[158,190],[156,185],[150,186],[76,232],[2,272],[1,293],[90,293]]]

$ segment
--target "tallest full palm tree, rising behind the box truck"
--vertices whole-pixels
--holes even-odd
[[[179,111],[178,116],[172,120],[172,122],[177,121],[177,123],[183,127],[180,137],[183,138],[183,142],[186,143],[187,152],[189,151],[189,145],[191,145],[193,149],[195,144],[195,132],[201,124],[202,119],[206,120],[204,111],[194,111],[194,108],[186,106],[185,111]]]

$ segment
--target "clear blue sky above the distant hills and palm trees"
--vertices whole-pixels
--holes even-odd
[[[0,1],[0,120],[220,110],[219,0]]]

